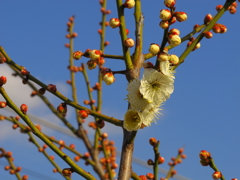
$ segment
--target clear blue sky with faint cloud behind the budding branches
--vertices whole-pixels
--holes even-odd
[[[215,6],[223,4],[224,0],[201,0],[177,1],[177,11],[188,14],[188,20],[175,23],[173,28],[181,31],[181,37],[192,31],[194,24],[203,23],[206,14],[216,14]],[[65,83],[69,79],[68,49],[64,44],[68,42],[65,38],[66,23],[68,18],[75,15],[75,31],[78,37],[75,39],[74,49],[85,51],[86,49],[99,49],[100,38],[97,30],[100,28],[101,20],[100,6],[98,1],[1,1],[1,28],[0,45],[3,46],[9,56],[19,65],[26,67],[32,75],[39,78],[45,84],[57,84],[61,93],[71,97],[70,87]],[[159,11],[165,8],[163,1],[151,0],[142,2],[144,13],[144,46],[143,52],[147,53],[151,43],[161,44],[163,30],[158,26]],[[117,17],[115,1],[108,2],[107,9],[112,13],[107,20]],[[130,30],[128,37],[134,38],[133,9],[126,10],[127,28]],[[239,67],[240,15],[227,12],[219,23],[227,26],[225,34],[213,34],[212,39],[203,39],[201,48],[192,52],[185,62],[177,68],[175,90],[171,98],[163,106],[162,116],[157,124],[138,132],[134,156],[147,160],[153,158],[153,151],[148,144],[148,139],[155,137],[161,141],[160,152],[168,162],[172,156],[177,154],[178,148],[184,146],[187,159],[176,167],[179,174],[189,179],[211,179],[213,170],[202,167],[199,163],[198,153],[200,150],[208,150],[212,153],[218,168],[223,172],[225,178],[240,178],[239,160],[240,145],[240,83]],[[110,45],[106,48],[106,54],[121,55],[121,42],[118,29],[107,27],[106,40]],[[172,49],[170,53],[181,55],[186,47],[186,42]],[[82,58],[76,61],[76,65],[87,62]],[[155,58],[150,60],[155,62]],[[123,70],[123,61],[106,59],[106,67],[112,70]],[[8,77],[6,84],[7,92],[18,104],[27,103],[29,113],[40,116],[47,121],[62,125],[44,107],[38,98],[28,100],[31,92],[28,87],[21,84],[19,79],[11,78],[10,70],[6,65],[0,65],[0,75]],[[97,81],[97,70],[89,71],[91,85]],[[82,103],[87,99],[85,82],[80,73],[76,74],[79,101]],[[127,109],[127,81],[122,75],[116,75],[116,82],[111,86],[103,86],[103,113],[123,119]],[[61,103],[60,100],[47,95],[54,106]],[[0,100],[2,98],[0,97]],[[76,125],[73,109],[69,107],[67,118]],[[0,110],[1,114],[6,113]],[[90,120],[88,120],[90,121]],[[87,125],[87,124],[86,124]],[[51,135],[59,136],[69,142],[74,142],[84,153],[82,143],[68,136],[43,128],[43,131]],[[120,129],[109,125],[103,131],[110,135],[110,139],[116,141],[118,150],[121,149],[122,134]],[[39,154],[36,147],[28,143],[26,135],[13,131],[11,124],[1,122],[0,124],[0,147],[7,151],[13,151],[15,163],[30,170],[47,174],[58,179],[60,176],[53,174],[53,167],[43,155]],[[90,132],[90,135],[92,133]],[[49,150],[50,154],[53,154]],[[71,155],[70,155],[71,156]],[[56,160],[61,168],[67,165],[60,159]],[[4,160],[0,159],[4,164]],[[41,169],[39,169],[39,165]],[[81,166],[84,166],[80,162]],[[14,176],[3,170],[0,166],[1,177],[15,179]],[[161,165],[168,168],[167,163]],[[88,167],[88,171],[92,172]],[[150,172],[146,168],[133,165],[133,170],[140,174]],[[28,174],[23,172],[22,174]],[[39,179],[35,176],[30,179]],[[73,176],[76,179],[77,176]]]

